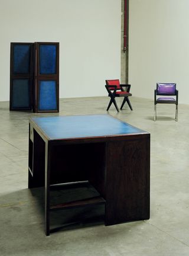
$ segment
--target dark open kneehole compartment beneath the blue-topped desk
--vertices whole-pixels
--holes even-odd
[[[70,184],[74,188],[74,185],[77,186],[77,184],[82,186],[83,183],[85,187],[86,183],[90,183],[96,189],[96,193],[86,195],[84,198],[76,194],[74,200],[66,200],[51,205],[51,211],[105,203],[105,150],[106,143],[84,143],[53,147],[51,151],[50,190],[58,187],[63,188],[64,186],[61,186],[61,184],[66,186]]]

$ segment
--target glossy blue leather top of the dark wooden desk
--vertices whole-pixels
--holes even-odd
[[[147,133],[108,114],[34,117],[31,120],[50,140]]]

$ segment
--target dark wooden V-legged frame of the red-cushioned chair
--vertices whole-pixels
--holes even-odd
[[[117,105],[117,103],[116,103],[115,97],[124,97],[123,103],[122,103],[122,105],[121,105],[121,107],[120,107],[120,110],[122,110],[123,105],[124,105],[126,102],[128,103],[129,108],[130,108],[131,110],[133,110],[133,109],[132,109],[131,102],[129,101],[129,98],[128,98],[129,96],[132,96],[132,94],[129,92],[130,89],[131,89],[131,85],[129,85],[129,84],[120,84],[120,89],[119,89],[117,85],[107,85],[107,82],[106,82],[105,87],[106,87],[106,89],[107,89],[108,96],[110,97],[110,102],[109,102],[109,104],[108,104],[108,106],[107,106],[107,111],[109,110],[110,105],[112,105],[112,103],[113,103],[113,104],[115,105],[115,107],[116,107],[116,110],[119,112],[119,108],[118,108],[118,105]],[[123,89],[123,87],[125,87],[126,91]],[[112,92],[112,90],[111,90],[110,88],[114,88],[113,92]],[[126,93],[125,93],[125,94],[116,94],[116,91],[117,91],[118,89],[121,90],[121,91],[123,91],[123,92],[125,91]]]

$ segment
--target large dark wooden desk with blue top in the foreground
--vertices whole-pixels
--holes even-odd
[[[150,135],[107,114],[30,119],[28,187],[45,187],[50,212],[105,203],[105,225],[149,219]],[[50,205],[52,184],[89,181],[95,199]]]

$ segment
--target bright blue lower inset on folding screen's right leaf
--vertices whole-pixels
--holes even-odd
[[[56,81],[39,81],[38,110],[57,110]]]

